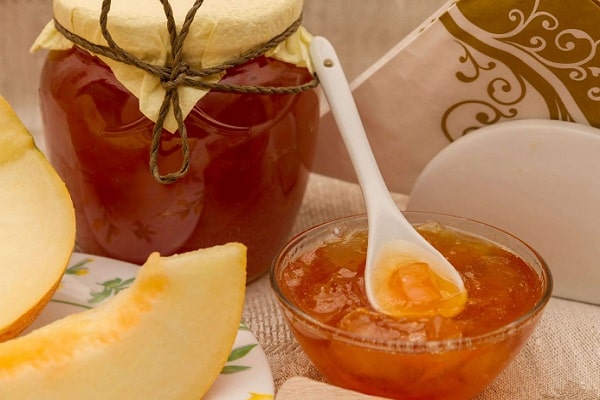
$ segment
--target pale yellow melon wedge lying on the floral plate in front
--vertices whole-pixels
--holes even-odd
[[[241,320],[246,248],[152,254],[129,289],[0,344],[2,400],[199,400]]]

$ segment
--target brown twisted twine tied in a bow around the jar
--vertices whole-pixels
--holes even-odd
[[[319,82],[316,76],[310,82],[296,85],[296,86],[246,86],[246,85],[231,85],[223,84],[219,82],[205,82],[202,80],[203,77],[215,75],[226,71],[229,68],[237,65],[244,64],[258,56],[265,54],[268,50],[276,47],[279,43],[283,42],[300,27],[302,16],[298,18],[292,25],[290,25],[281,34],[275,36],[268,42],[251,49],[234,60],[225,62],[221,65],[211,68],[203,69],[192,69],[183,59],[183,44],[189,33],[190,26],[196,16],[196,12],[204,3],[204,0],[196,0],[192,8],[187,12],[181,30],[177,32],[177,26],[175,18],[173,17],[173,9],[168,0],[160,0],[165,12],[167,20],[167,30],[169,33],[169,40],[171,44],[172,59],[167,61],[164,66],[157,66],[146,63],[126,50],[122,49],[113,39],[112,35],[108,30],[108,13],[111,7],[111,0],[102,1],[102,9],[100,12],[100,28],[102,35],[106,40],[108,46],[102,46],[96,43],[92,43],[85,38],[70,32],[64,26],[62,26],[56,18],[54,19],[54,25],[56,29],[71,42],[75,43],[81,48],[84,48],[92,53],[100,54],[102,56],[111,58],[115,61],[126,63],[128,65],[140,68],[152,75],[157,76],[163,88],[165,89],[165,97],[160,107],[158,118],[154,124],[152,130],[152,145],[150,148],[150,172],[154,179],[163,184],[169,184],[175,182],[177,179],[185,176],[190,167],[190,148],[187,137],[187,128],[184,123],[183,113],[179,103],[179,92],[177,88],[179,86],[193,86],[205,90],[214,90],[220,92],[235,92],[235,93],[250,93],[250,94],[294,94],[300,93],[305,90],[313,89],[318,86]],[[170,108],[173,107],[173,115],[177,121],[177,129],[181,138],[181,149],[183,153],[183,161],[180,169],[177,172],[170,172],[162,175],[158,167],[158,150],[160,147],[160,138],[162,135],[163,125],[165,119],[169,113]]]

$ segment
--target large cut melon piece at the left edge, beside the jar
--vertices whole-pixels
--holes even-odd
[[[0,97],[0,341],[50,301],[75,242],[67,188]]]

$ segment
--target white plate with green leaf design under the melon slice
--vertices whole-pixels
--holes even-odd
[[[133,282],[138,268],[109,258],[74,253],[60,288],[28,330],[106,301]],[[203,400],[267,400],[273,395],[267,358],[254,335],[240,324],[230,361]]]

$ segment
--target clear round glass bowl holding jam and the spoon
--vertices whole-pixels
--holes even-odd
[[[358,285],[358,292],[364,291],[364,284],[360,278],[355,283],[350,283],[352,280],[350,278],[353,274],[351,271],[356,265],[362,263],[364,268],[367,231],[365,215],[327,222],[292,238],[273,262],[270,276],[272,288],[296,340],[330,383],[367,394],[405,400],[470,399],[506,368],[531,335],[551,296],[550,270],[534,249],[511,234],[490,225],[433,213],[406,212],[405,216],[414,225],[429,224],[434,227],[441,225],[473,235],[479,238],[477,240],[492,242],[496,247],[510,252],[520,259],[522,264],[524,262],[525,268],[529,266],[526,268],[528,274],[537,281],[535,296],[531,297],[530,303],[519,312],[520,314],[499,322],[499,325],[490,328],[489,331],[480,330],[475,334],[469,334],[468,331],[461,332],[460,327],[463,326],[461,318],[467,309],[450,321],[444,321],[442,317],[435,319],[438,318],[435,317],[435,321],[428,322],[427,326],[434,326],[440,332],[445,332],[439,333],[439,338],[435,338],[434,334],[433,339],[423,336],[420,332],[423,330],[423,322],[420,320],[389,322],[390,325],[398,322],[402,327],[404,331],[399,335],[390,334],[385,329],[381,331],[376,326],[371,330],[370,328],[363,330],[367,334],[363,334],[360,329],[353,332],[341,329],[339,326],[348,324],[339,321],[336,325],[330,323],[327,321],[328,313],[333,312],[332,310],[338,306],[341,307],[336,302],[350,304],[354,303],[355,299],[350,295],[334,296],[329,299],[319,298],[324,293],[336,293],[336,291],[339,295],[339,291],[343,290],[340,287],[336,289],[328,287],[329,283],[323,283],[323,275],[333,264],[334,270],[337,268],[336,274],[348,278],[342,285]],[[362,232],[362,239],[360,236],[352,236],[353,232]],[[352,254],[339,248],[328,249],[329,266],[306,267],[316,258],[316,249],[332,246],[332,243],[340,243],[340,241],[349,243],[348,246],[353,248]],[[472,251],[473,246],[473,243],[468,240],[461,241],[452,251],[461,253],[464,250],[468,253]],[[439,250],[444,253],[441,248]],[[304,263],[304,269],[297,269],[298,263]],[[349,265],[355,266],[348,267]],[[292,266],[296,269],[291,269]],[[360,269],[360,267],[356,268]],[[486,268],[492,270],[491,267]],[[476,292],[475,287],[473,292],[469,291],[466,279],[470,279],[470,273],[461,272],[469,298],[471,293]],[[320,282],[316,287],[309,288],[304,283],[300,283],[311,275]],[[498,275],[499,277],[501,276]],[[488,299],[484,303],[494,305],[504,302],[507,303],[506,307],[512,307],[512,299],[520,296],[522,283],[521,276],[516,276],[515,279],[518,281],[517,284],[509,285],[494,277],[492,282],[496,286],[499,300]],[[523,281],[525,281],[525,274]],[[287,284],[284,285],[284,282]],[[294,287],[295,295],[289,289],[290,285]],[[481,296],[487,296],[486,290],[480,292]],[[309,313],[305,306],[299,305],[298,300],[306,299],[318,304],[315,306],[319,308],[318,317]],[[475,300],[473,302],[475,303]],[[516,302],[517,300],[514,300],[515,304]],[[492,319],[501,318],[502,311],[495,308],[488,311],[484,307],[480,306],[480,314],[491,316]],[[358,309],[362,310],[359,313],[365,313],[364,304],[361,307],[357,306]],[[354,326],[352,324],[353,322],[350,326]],[[478,324],[479,322],[475,320],[474,325],[478,326]],[[411,332],[411,329],[414,329],[414,332]]]

